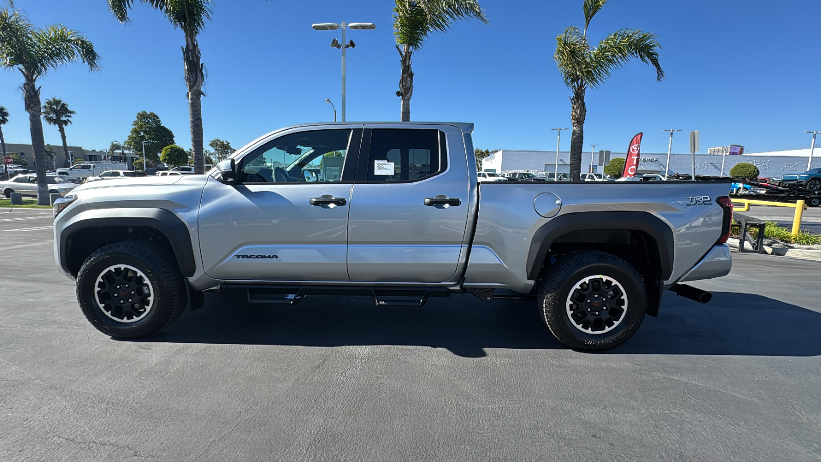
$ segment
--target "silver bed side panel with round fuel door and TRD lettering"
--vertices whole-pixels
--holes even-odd
[[[548,182],[481,183],[479,216],[466,271],[466,287],[499,287],[529,292],[527,256],[534,233],[550,219],[536,213],[535,197],[561,198],[556,216],[598,211],[640,211],[673,231],[672,276],[685,275],[721,234],[723,210],[715,202],[729,194],[728,182]],[[709,196],[703,204],[689,197]]]

